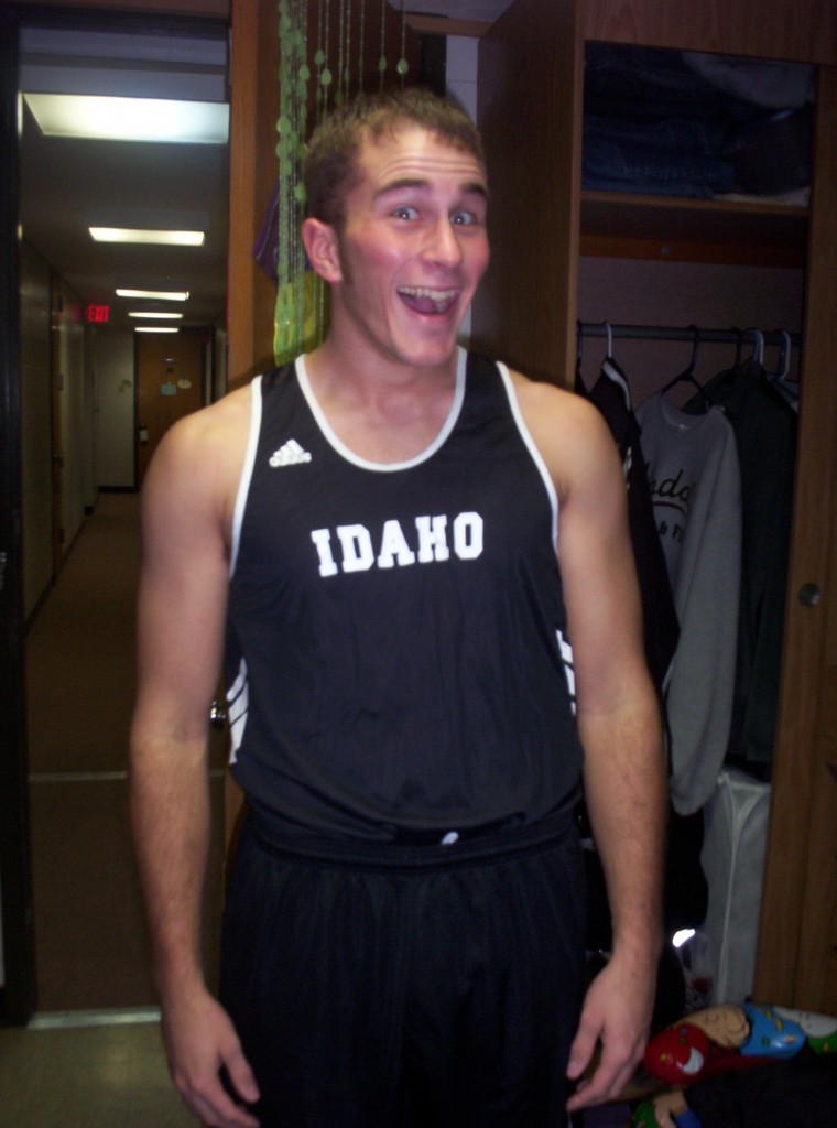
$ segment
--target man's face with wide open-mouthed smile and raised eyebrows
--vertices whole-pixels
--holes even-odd
[[[341,325],[389,361],[443,364],[488,264],[485,175],[413,124],[368,136],[358,167],[338,237]]]

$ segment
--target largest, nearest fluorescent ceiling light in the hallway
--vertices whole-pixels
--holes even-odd
[[[51,138],[226,144],[229,105],[87,94],[25,94],[41,132]]]

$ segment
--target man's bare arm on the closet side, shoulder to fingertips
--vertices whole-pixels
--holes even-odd
[[[571,1051],[570,1075],[578,1078],[598,1042],[602,1050],[570,1102],[576,1109],[617,1095],[646,1043],[661,945],[666,767],[615,444],[579,397],[531,386],[520,394],[560,497],[584,794],[613,923],[611,958],[588,992]]]

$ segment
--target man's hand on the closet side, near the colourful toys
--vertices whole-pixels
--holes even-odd
[[[627,969],[617,957],[592,981],[570,1049],[567,1076],[582,1077],[599,1042],[601,1059],[567,1101],[570,1112],[613,1101],[625,1089],[647,1045],[654,986],[653,969]]]

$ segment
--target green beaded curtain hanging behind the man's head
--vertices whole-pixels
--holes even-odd
[[[399,21],[400,54],[388,60],[386,44],[393,43],[393,21]],[[316,44],[309,43],[314,27]],[[371,61],[364,58],[370,43],[379,45],[378,86],[403,83],[409,70],[404,0],[399,10],[386,0],[279,0],[279,178],[272,210],[277,282],[273,352],[277,364],[309,352],[325,336],[327,287],[308,268],[300,235],[302,158],[310,130],[335,106],[370,88]]]

